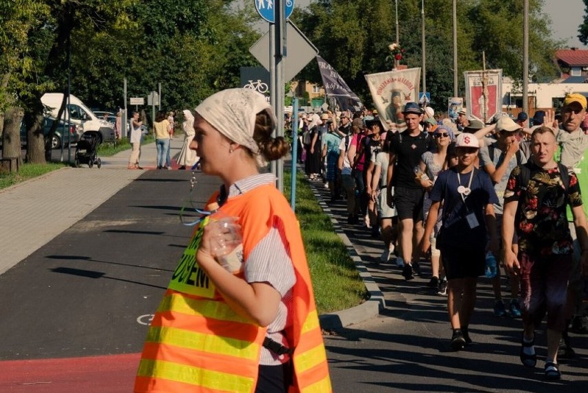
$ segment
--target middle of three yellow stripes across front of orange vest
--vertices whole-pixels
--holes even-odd
[[[223,354],[257,361],[259,345],[236,338],[202,334],[173,327],[150,327],[147,342],[174,345],[213,354]],[[238,361],[238,359],[235,359]]]

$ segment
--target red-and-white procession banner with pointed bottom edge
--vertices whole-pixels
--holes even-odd
[[[465,71],[467,116],[486,123],[502,111],[502,70]]]

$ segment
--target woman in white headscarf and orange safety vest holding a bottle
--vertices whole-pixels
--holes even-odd
[[[135,392],[329,393],[300,229],[274,176],[259,173],[290,150],[271,136],[271,106],[254,90],[235,88],[195,112],[190,148],[202,172],[223,182],[210,198],[218,213],[199,223],[178,262],[146,338]],[[221,213],[242,232],[232,267],[213,247],[231,240],[219,229]]]

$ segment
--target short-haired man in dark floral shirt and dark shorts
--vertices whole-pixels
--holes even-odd
[[[535,367],[535,328],[547,311],[547,359],[545,376],[559,379],[558,345],[565,329],[567,281],[574,245],[566,204],[574,215],[574,226],[582,249],[582,267],[588,271],[588,234],[578,178],[574,172],[562,176],[553,160],[556,137],[551,128],[540,127],[531,135],[531,160],[516,166],[504,191],[502,251],[505,267],[521,280],[523,335],[520,361]],[[522,171],[529,171],[521,184]],[[564,184],[564,178],[569,184]],[[521,195],[522,194],[522,195]],[[521,203],[522,206],[518,207]],[[513,230],[518,235],[518,255],[512,251]]]

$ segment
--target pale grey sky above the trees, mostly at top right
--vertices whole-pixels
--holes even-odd
[[[311,0],[294,0],[295,7],[306,7],[309,3]],[[424,6],[426,11],[427,1]],[[551,17],[553,38],[567,41],[570,47],[588,49],[578,40],[578,26],[584,19],[584,8],[583,0],[545,0],[543,11]]]

